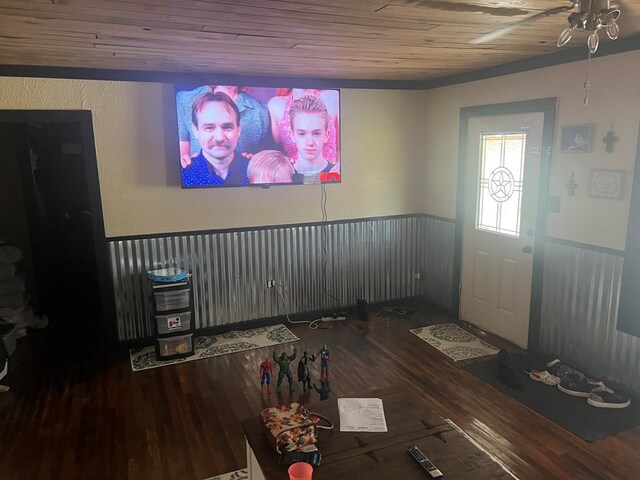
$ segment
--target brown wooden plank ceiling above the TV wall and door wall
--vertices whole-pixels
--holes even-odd
[[[621,37],[640,31],[618,0]],[[558,50],[567,0],[0,0],[0,64],[430,80]],[[569,46],[583,48],[586,34]],[[602,41],[608,41],[601,34]]]

